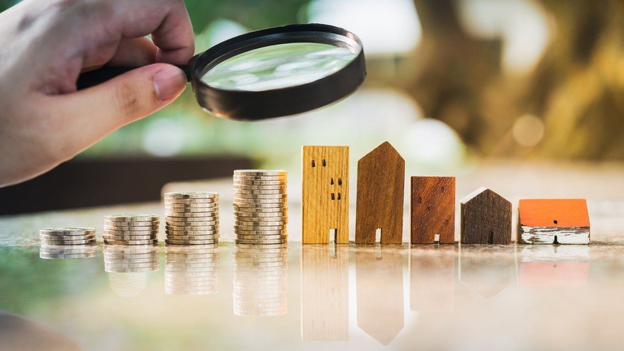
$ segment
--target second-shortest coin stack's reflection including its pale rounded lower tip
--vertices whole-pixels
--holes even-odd
[[[104,271],[119,296],[136,296],[147,286],[147,273],[159,268],[158,247],[104,245]]]

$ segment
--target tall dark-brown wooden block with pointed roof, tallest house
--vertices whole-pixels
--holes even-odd
[[[355,243],[403,243],[405,160],[387,141],[357,162]]]

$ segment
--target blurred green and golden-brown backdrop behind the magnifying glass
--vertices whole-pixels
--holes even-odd
[[[1,9],[15,1],[0,0]],[[186,0],[196,48],[249,30],[319,22],[360,35],[369,77],[350,98],[294,118],[237,123],[191,89],[79,157],[250,157],[295,167],[299,147],[389,140],[411,165],[484,157],[624,158],[619,0]]]

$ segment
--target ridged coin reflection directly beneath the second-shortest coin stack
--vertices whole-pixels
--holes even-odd
[[[104,245],[102,250],[106,272],[152,272],[160,266],[158,248],[155,246]]]

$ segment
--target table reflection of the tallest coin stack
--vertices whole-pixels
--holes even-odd
[[[236,245],[234,313],[237,316],[281,316],[287,312],[286,244]]]

